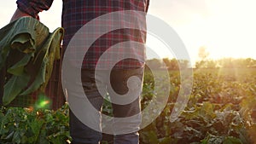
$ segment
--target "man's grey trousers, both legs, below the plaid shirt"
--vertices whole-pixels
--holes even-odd
[[[102,76],[101,76],[102,73]],[[100,89],[106,89],[106,94],[108,93],[108,84],[106,81],[110,80],[110,84],[112,89],[118,93],[119,95],[124,95],[129,90],[127,87],[127,79],[131,76],[137,76],[143,81],[143,68],[138,69],[113,69],[111,72],[110,78],[104,78],[104,71],[97,72],[99,76],[95,78],[95,72],[93,70],[81,70],[81,79],[84,88],[84,93],[89,99],[90,103],[100,112],[102,110],[103,97],[99,93],[99,88],[96,86],[100,84]],[[67,78],[68,83],[73,83],[73,86],[76,86],[76,80],[73,78]],[[71,89],[72,90],[72,89]],[[74,89],[71,92],[73,95],[76,94]],[[70,96],[70,95],[69,95]],[[111,95],[110,95],[111,97]],[[114,118],[126,118],[137,113],[141,112],[140,107],[140,98],[137,95],[137,99],[132,101],[129,104],[118,105],[112,104],[113,107],[113,117]],[[101,121],[101,119],[98,119]],[[91,130],[88,126],[79,121],[73,112],[70,110],[70,135],[73,138],[73,144],[98,144],[102,140],[102,133],[96,130]],[[138,117],[135,121],[127,121],[124,125],[121,126],[120,129],[136,129],[139,130],[139,125],[141,124],[141,118]],[[131,128],[133,127],[133,128]],[[119,129],[119,128],[114,128]],[[132,132],[129,134],[123,135],[114,135],[113,136],[114,144],[138,144],[139,143],[139,135],[138,132]]]

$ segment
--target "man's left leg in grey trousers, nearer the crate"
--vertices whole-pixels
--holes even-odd
[[[99,95],[95,84],[94,71],[82,69],[82,83],[84,93],[89,99],[90,103],[98,110],[102,109],[102,96]],[[67,83],[73,84],[73,90],[69,91],[69,95],[84,95],[76,92],[76,87],[80,85],[76,83],[77,80],[69,78]],[[83,107],[83,106],[81,106]],[[70,110],[69,113],[70,135],[73,138],[73,144],[98,144],[102,140],[102,133],[90,129],[83,124]],[[98,119],[100,121],[100,119]]]

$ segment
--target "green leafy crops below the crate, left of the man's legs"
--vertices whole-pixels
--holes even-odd
[[[67,105],[57,111],[2,107],[0,143],[63,144],[71,141]]]

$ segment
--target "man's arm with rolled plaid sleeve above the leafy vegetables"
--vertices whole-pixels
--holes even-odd
[[[17,0],[18,9],[16,9],[11,21],[22,16],[32,16],[38,19],[38,13],[48,10],[54,0]]]

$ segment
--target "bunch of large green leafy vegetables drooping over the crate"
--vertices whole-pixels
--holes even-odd
[[[18,95],[44,92],[54,60],[60,59],[63,28],[49,33],[43,23],[23,17],[4,26],[0,33],[3,105]]]

